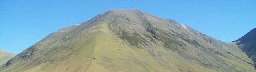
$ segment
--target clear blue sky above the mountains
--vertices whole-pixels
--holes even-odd
[[[18,54],[61,28],[127,8],[176,20],[224,42],[256,27],[256,0],[0,0],[0,49]]]

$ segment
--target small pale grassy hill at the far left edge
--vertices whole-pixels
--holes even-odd
[[[0,65],[4,64],[5,62],[10,60],[14,56],[15,56],[15,54],[0,50]]]

